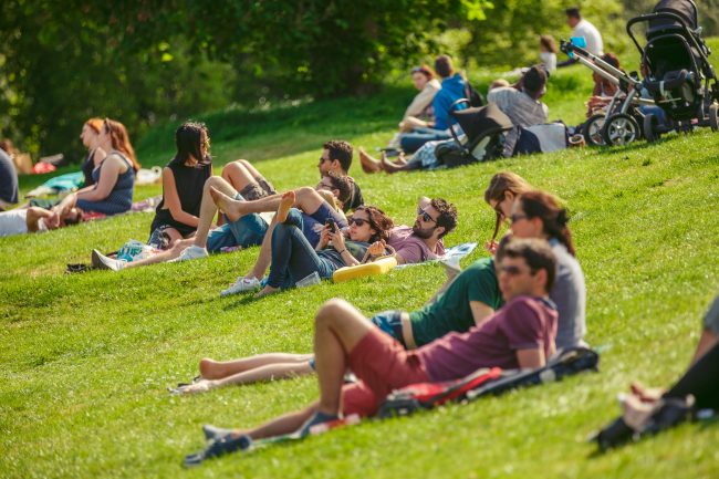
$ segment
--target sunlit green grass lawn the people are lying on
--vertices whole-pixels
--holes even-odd
[[[581,121],[590,90],[586,69],[554,75],[546,98],[551,117]],[[325,139],[384,144],[410,97],[409,90],[397,87],[373,98],[200,118],[210,125],[217,165],[246,157],[286,189],[316,183]],[[158,127],[139,140],[143,164],[170,158],[173,131],[174,125]],[[119,273],[63,275],[66,263],[88,262],[92,248],[145,240],[152,215],[0,239],[0,476],[718,477],[716,425],[687,425],[601,456],[585,442],[616,416],[616,394],[631,381],[667,385],[694,351],[701,315],[719,291],[718,138],[705,129],[653,145],[396,176],[367,176],[353,167],[366,201],[398,222],[413,221],[421,195],[455,202],[460,223],[448,244],[481,243],[490,236],[493,214],[481,195],[499,170],[560,196],[573,214],[586,274],[586,339],[605,346],[601,373],[410,418],[367,421],[188,471],[181,459],[204,446],[202,424],[252,426],[317,396],[311,377],[168,395],[168,385],[197,374],[199,358],[310,352],[313,315],[325,300],[344,298],[368,315],[414,309],[441,284],[441,268],[323,283],[259,301],[220,299],[219,291],[253,263],[257,248]],[[42,179],[22,178],[22,190]],[[136,199],[158,192],[156,186],[142,187]],[[482,254],[478,249],[463,263]]]

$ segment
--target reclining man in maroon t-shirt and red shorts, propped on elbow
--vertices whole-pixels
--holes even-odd
[[[342,300],[325,303],[315,316],[314,353],[320,399],[251,429],[208,427],[215,437],[204,457],[232,452],[259,439],[298,431],[341,415],[374,415],[393,391],[415,383],[458,379],[481,367],[538,368],[554,353],[556,311],[548,293],[555,274],[546,241],[512,240],[499,264],[507,304],[467,333],[450,333],[406,351]],[[357,383],[344,385],[352,369]]]

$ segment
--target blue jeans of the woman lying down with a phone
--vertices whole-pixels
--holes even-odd
[[[268,285],[292,288],[313,272],[320,278],[332,278],[337,267],[320,257],[302,233],[302,214],[292,208],[288,219],[274,227],[272,232],[272,265]]]

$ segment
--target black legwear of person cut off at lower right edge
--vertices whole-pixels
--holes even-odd
[[[681,376],[664,397],[694,395],[699,409],[719,410],[719,343]]]

